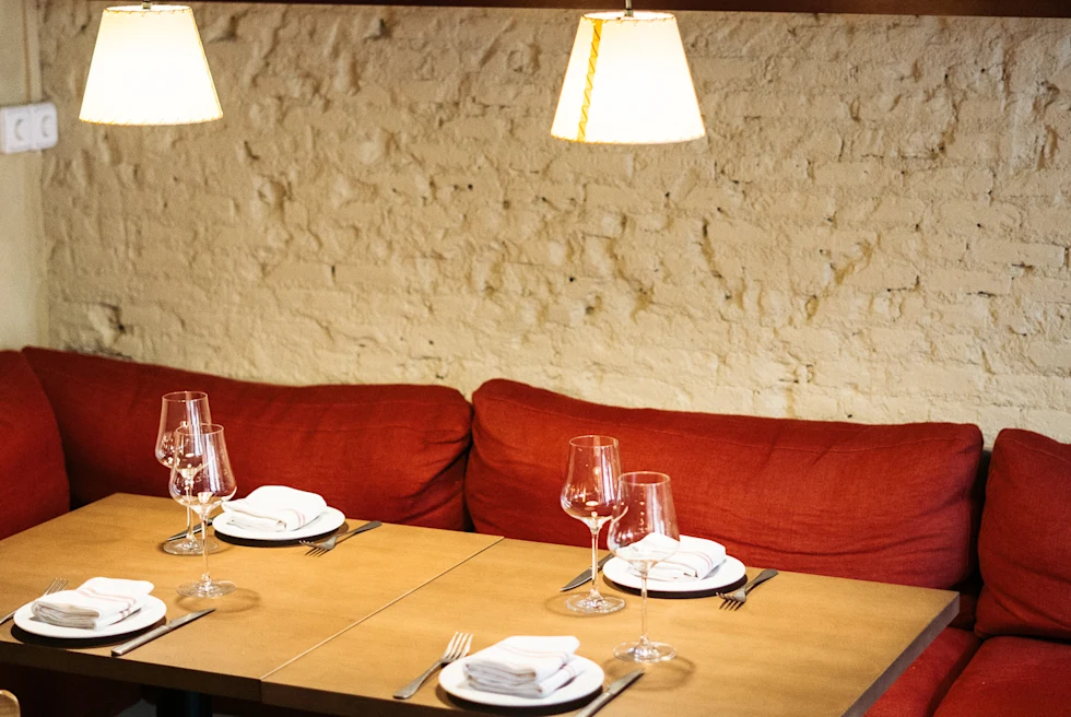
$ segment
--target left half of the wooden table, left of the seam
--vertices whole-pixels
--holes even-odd
[[[185,522],[174,501],[117,494],[0,541],[0,612],[38,597],[56,576],[71,587],[94,576],[151,580],[168,620],[216,608],[121,658],[110,657],[110,648],[129,636],[72,648],[9,622],[0,627],[0,662],[259,700],[264,675],[499,540],[385,525],[321,557],[306,557],[301,546],[221,543],[209,555],[212,576],[238,589],[205,600],[175,591],[200,576],[201,557],[168,555],[160,546]]]

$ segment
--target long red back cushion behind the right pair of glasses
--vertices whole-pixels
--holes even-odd
[[[968,575],[981,432],[621,409],[492,380],[472,397],[476,530],[585,544],[560,507],[567,442],[609,434],[623,470],[669,473],[681,531],[749,565],[950,587]]]

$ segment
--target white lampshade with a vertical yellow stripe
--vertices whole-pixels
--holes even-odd
[[[660,12],[584,15],[551,134],[610,144],[703,137],[676,19]]]

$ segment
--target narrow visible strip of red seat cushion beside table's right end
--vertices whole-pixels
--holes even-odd
[[[942,630],[867,712],[867,717],[929,717],[980,644],[966,630]]]

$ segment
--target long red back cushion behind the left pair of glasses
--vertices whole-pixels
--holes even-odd
[[[252,384],[43,349],[24,353],[59,421],[79,504],[115,492],[167,495],[153,447],[161,397],[208,392],[226,428],[238,495],[264,484],[316,491],[352,517],[464,526],[471,412],[442,386]]]

